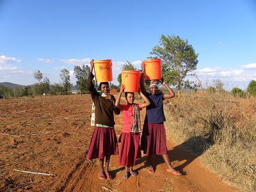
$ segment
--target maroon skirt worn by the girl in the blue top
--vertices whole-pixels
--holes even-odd
[[[147,156],[168,154],[164,123],[144,122],[141,136],[141,150]]]

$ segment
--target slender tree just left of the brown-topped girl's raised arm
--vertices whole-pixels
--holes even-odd
[[[86,65],[86,67],[81,68],[80,66],[76,66],[74,67],[74,75],[77,79],[76,81],[76,86],[78,88],[78,90],[80,90],[81,95],[83,94],[83,92],[87,92],[88,88],[87,88],[87,79],[90,73],[90,67],[88,67],[88,65]]]

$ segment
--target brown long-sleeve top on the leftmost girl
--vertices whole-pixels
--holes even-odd
[[[87,87],[91,94],[93,103],[95,105],[95,124],[108,125],[109,127],[114,127],[114,114],[120,114],[120,110],[116,108],[115,104],[109,99],[101,97],[100,93],[95,89],[92,79],[93,74],[90,72],[87,79]],[[115,100],[115,97],[111,95]]]

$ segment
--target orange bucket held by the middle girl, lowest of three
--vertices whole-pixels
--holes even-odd
[[[125,86],[125,92],[138,92],[140,85],[140,71],[122,70],[122,84]]]

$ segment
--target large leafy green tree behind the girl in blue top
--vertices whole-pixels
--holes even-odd
[[[198,54],[188,40],[182,40],[179,36],[162,35],[159,42],[160,45],[156,45],[150,54],[154,58],[161,58],[164,81],[177,86],[180,98],[180,88],[186,84],[185,77],[195,75],[189,72],[196,70]]]

